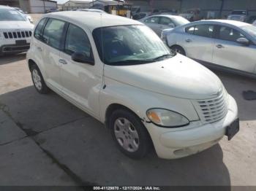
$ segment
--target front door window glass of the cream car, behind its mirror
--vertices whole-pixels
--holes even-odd
[[[78,26],[69,24],[65,42],[65,50],[68,55],[74,52],[83,52],[88,58],[93,59],[91,44],[86,32]]]

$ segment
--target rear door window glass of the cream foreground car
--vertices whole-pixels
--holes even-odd
[[[42,36],[43,42],[51,47],[59,49],[64,25],[64,21],[50,18],[45,26],[44,34]]]

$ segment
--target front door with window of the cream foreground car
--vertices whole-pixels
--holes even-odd
[[[80,52],[90,61],[73,61]],[[91,114],[99,114],[99,90],[102,85],[103,66],[94,64],[91,43],[86,32],[69,24],[64,50],[60,53],[61,85],[64,95]]]

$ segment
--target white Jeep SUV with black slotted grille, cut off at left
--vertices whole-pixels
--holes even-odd
[[[0,5],[0,55],[29,50],[33,28],[16,9]]]

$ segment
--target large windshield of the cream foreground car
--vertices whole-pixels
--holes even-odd
[[[175,55],[147,26],[96,28],[93,36],[99,57],[108,65],[151,63]]]

